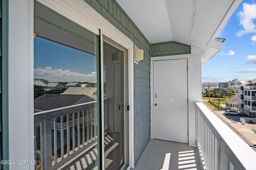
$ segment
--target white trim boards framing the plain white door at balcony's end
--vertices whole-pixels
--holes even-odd
[[[188,145],[196,147],[195,102],[201,96],[201,57],[200,54],[184,54],[150,58],[150,138],[154,139],[154,61],[187,58],[188,60]],[[177,73],[178,74],[178,73]]]

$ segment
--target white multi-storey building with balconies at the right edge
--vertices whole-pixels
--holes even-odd
[[[256,79],[239,85],[236,94],[236,105],[239,111],[247,116],[256,117]]]

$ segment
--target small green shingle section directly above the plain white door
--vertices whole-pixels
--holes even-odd
[[[190,53],[191,49],[189,45],[175,41],[151,44],[151,57]]]

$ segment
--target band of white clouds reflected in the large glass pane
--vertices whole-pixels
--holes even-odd
[[[96,72],[91,74],[83,74],[79,72],[73,72],[70,69],[52,69],[50,66],[38,67],[34,69],[35,78],[43,78],[49,81],[90,81],[96,77]]]

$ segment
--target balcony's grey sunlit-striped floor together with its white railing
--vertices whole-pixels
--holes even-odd
[[[255,169],[256,152],[203,103],[196,103],[196,141],[197,148],[150,139],[134,169]]]

